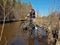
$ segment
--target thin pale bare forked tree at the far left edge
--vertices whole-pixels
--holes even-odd
[[[0,4],[0,6],[2,7],[2,10],[3,10],[3,25],[2,25],[2,30],[1,30],[1,35],[0,35],[0,41],[2,40],[2,36],[3,36],[3,31],[4,31],[4,25],[5,25],[5,20],[7,18],[7,16],[9,16],[9,14],[12,12],[12,10],[14,10],[14,8],[12,6],[9,7],[9,10],[7,13],[6,13],[6,5],[7,5],[7,1],[8,0],[3,0],[2,1],[2,4]],[[11,4],[12,5],[12,4]]]

